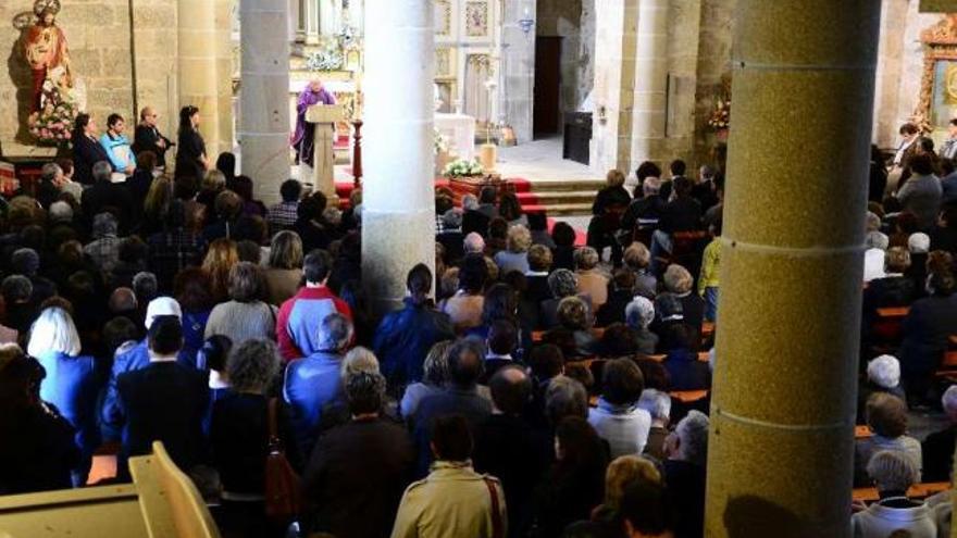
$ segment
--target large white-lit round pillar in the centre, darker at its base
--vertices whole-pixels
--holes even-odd
[[[434,267],[433,5],[370,0],[365,12],[362,281],[382,314],[406,274]]]

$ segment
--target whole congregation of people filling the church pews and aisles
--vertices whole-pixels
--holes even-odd
[[[0,443],[0,495],[83,487],[111,446],[112,479],[128,480],[159,440],[226,537],[294,522],[303,536],[703,536],[711,368],[735,360],[711,350],[720,172],[644,163],[634,192],[609,172],[586,246],[508,190],[437,189],[435,271],[407,267],[403,304],[376,318],[361,190],[341,211],[289,179],[266,208],[234,155],[208,158],[195,108],[174,174],[154,113],[136,151],[117,117],[98,138],[80,115],[74,159],[2,208],[0,436],[16,441]],[[934,375],[957,335],[957,175],[913,147],[866,224],[873,435],[855,477],[881,500],[856,505],[865,537],[936,536],[947,503],[907,490],[948,478],[957,433],[957,388]],[[887,306],[909,308],[899,335]],[[941,402],[954,425],[921,446],[908,405]],[[285,517],[265,497],[275,450],[301,477]]]

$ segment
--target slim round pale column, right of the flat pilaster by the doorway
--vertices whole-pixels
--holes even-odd
[[[635,51],[631,166],[660,158],[668,96],[668,2],[641,0]]]

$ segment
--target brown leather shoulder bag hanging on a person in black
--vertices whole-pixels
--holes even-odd
[[[299,514],[301,497],[299,476],[286,459],[276,426],[278,399],[269,401],[269,453],[265,456],[265,515],[277,522],[288,522]]]

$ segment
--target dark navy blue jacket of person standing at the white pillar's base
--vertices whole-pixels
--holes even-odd
[[[378,324],[372,349],[389,387],[400,390],[422,380],[422,363],[435,342],[455,337],[448,314],[407,299],[406,308],[390,312]]]

